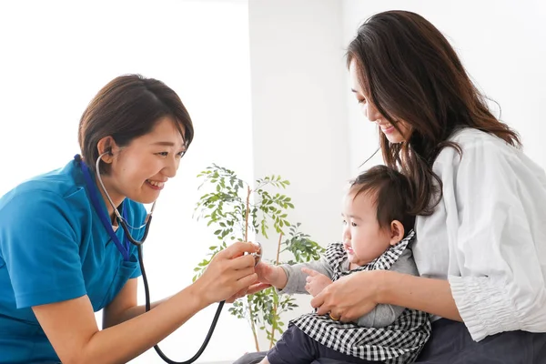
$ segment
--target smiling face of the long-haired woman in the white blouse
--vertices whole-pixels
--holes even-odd
[[[360,85],[359,67],[353,59],[349,65],[349,74],[351,82],[351,91],[357,97],[362,114],[372,123],[376,123],[379,130],[387,137],[390,143],[401,143],[408,140],[411,134],[410,125],[402,120],[397,120],[396,126],[393,126],[389,120],[382,116],[377,107],[374,106],[369,96],[366,96],[362,85]]]

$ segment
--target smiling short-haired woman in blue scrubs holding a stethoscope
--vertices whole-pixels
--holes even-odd
[[[243,254],[257,248],[238,242],[149,312],[136,305],[137,249],[115,207],[141,239],[142,204],[156,201],[175,177],[193,136],[172,89],[120,76],[81,117],[81,157],[0,198],[0,363],[126,362],[256,280],[254,258]],[[103,308],[100,330],[94,312]]]

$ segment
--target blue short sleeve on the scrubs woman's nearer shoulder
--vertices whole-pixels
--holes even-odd
[[[76,231],[63,197],[26,191],[8,201],[0,218],[0,251],[17,308],[86,295]]]

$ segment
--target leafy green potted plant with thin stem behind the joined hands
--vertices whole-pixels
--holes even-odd
[[[219,242],[209,247],[207,258],[194,269],[194,280],[203,273],[219,251],[227,248],[227,241],[248,241],[249,230],[265,238],[268,238],[271,230],[278,234],[277,256],[271,261],[272,264],[283,263],[279,258],[284,252],[285,255],[290,253],[292,256],[287,261],[290,264],[320,258],[324,248],[299,231],[299,223],[291,224],[287,219],[288,209],[294,208],[291,198],[272,191],[285,189],[289,185],[288,180],[280,176],[268,176],[257,179],[251,188],[235,172],[215,164],[207,167],[197,177],[203,179],[199,189],[207,187],[209,191],[197,202],[197,220],[206,220],[207,226],[214,228],[214,235]],[[277,341],[277,334],[283,332],[281,315],[298,307],[294,301],[288,295],[278,295],[275,288],[267,288],[239,298],[229,308],[229,312],[238,319],[248,319],[256,349],[259,351],[258,329],[266,331],[271,348]]]

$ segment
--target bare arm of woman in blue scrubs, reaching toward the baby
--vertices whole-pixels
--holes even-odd
[[[235,243],[218,253],[194,284],[149,312],[107,329],[97,328],[87,296],[35,306],[33,310],[63,363],[126,362],[165,339],[197,311],[252,284],[256,280],[254,258],[238,255],[254,250],[251,244]],[[116,302],[116,308],[133,303],[134,298],[129,297],[133,296],[129,291],[136,289],[132,280],[123,289],[123,302]]]

